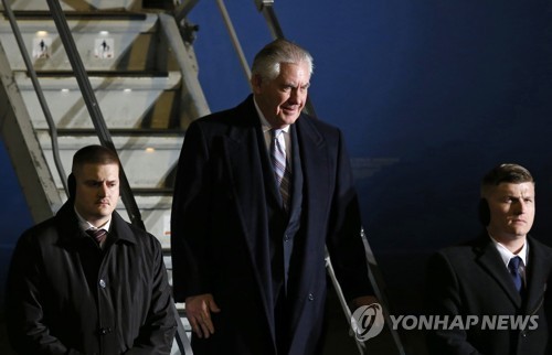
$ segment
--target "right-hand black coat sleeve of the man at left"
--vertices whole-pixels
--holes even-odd
[[[135,340],[132,348],[126,352],[128,355],[166,354],[171,352],[177,321],[174,319],[171,289],[169,286],[167,270],[163,263],[161,245],[153,237],[153,278],[151,281],[151,302],[146,316],[146,322],[140,326],[139,335]],[[149,254],[146,254],[149,255]]]

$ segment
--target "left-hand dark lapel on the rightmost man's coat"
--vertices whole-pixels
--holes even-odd
[[[516,306],[521,308],[521,295],[518,290],[516,290],[505,262],[490,238],[488,236],[481,237],[481,243],[476,246],[476,250],[479,255],[478,262],[482,269],[497,281]]]

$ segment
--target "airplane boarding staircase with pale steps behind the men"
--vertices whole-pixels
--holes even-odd
[[[198,1],[2,0],[0,8],[0,132],[32,218],[53,216],[66,201],[76,150],[115,148],[124,168],[117,211],[159,238],[169,279],[176,164],[189,122],[210,112],[185,18]],[[265,7],[273,1],[255,2],[283,36]],[[185,310],[177,308],[183,326],[173,354],[191,354]]]

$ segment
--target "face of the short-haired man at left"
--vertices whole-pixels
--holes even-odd
[[[84,164],[75,172],[75,208],[96,227],[105,224],[119,198],[118,164]]]

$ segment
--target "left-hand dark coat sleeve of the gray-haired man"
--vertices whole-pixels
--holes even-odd
[[[177,302],[210,293],[208,279],[209,149],[197,122],[180,152],[171,211],[172,286]]]

